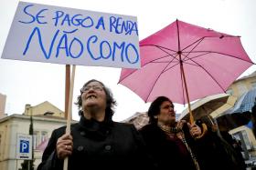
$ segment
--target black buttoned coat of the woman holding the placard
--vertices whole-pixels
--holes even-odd
[[[53,131],[37,170],[62,170],[56,143],[66,127]],[[144,141],[133,125],[112,121],[99,123],[83,116],[71,125],[73,153],[69,156],[69,170],[81,169],[137,169],[149,166]]]

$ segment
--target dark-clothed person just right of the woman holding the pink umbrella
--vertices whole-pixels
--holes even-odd
[[[229,145],[221,135],[216,121],[211,115],[202,116],[197,120],[197,125],[204,123],[208,132],[202,137],[198,159],[201,166],[208,170],[245,170],[245,162],[239,160],[239,155],[232,145]]]

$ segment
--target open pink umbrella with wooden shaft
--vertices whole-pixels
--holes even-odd
[[[119,83],[145,102],[165,95],[178,104],[223,93],[253,63],[240,36],[182,21],[140,41],[140,69],[122,69]]]

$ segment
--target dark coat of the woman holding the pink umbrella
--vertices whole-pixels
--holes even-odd
[[[184,125],[184,133],[188,145],[196,155],[196,142],[189,135],[187,125]],[[195,170],[196,167],[193,163],[191,155],[181,140],[170,141],[167,140],[165,132],[157,125],[145,125],[140,133],[144,137],[149,153],[153,156],[158,169],[178,169],[178,170]],[[183,145],[184,152],[180,152],[178,148]],[[184,149],[185,148],[185,149]]]

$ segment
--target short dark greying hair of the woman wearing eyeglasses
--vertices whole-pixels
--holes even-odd
[[[112,115],[114,114],[113,107],[116,105],[116,101],[114,100],[114,98],[112,96],[112,91],[108,87],[106,87],[101,81],[95,80],[95,79],[91,79],[88,82],[86,82],[82,86],[82,88],[89,85],[91,82],[98,82],[102,85],[103,90],[106,94],[106,105],[107,105],[106,110],[105,110],[105,120],[112,119]],[[81,92],[81,89],[80,89],[80,95],[78,95],[77,102],[75,103],[75,105],[78,105],[78,107],[79,107],[79,110],[80,110],[79,115],[82,115],[82,110],[81,110],[81,103],[82,103],[81,95],[82,95],[82,92]]]

